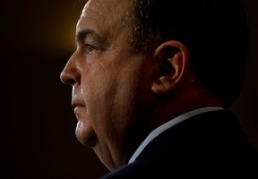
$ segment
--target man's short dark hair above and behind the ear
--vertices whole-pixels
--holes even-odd
[[[133,0],[137,52],[175,39],[189,52],[196,80],[229,105],[238,96],[248,59],[248,25],[241,0]]]

